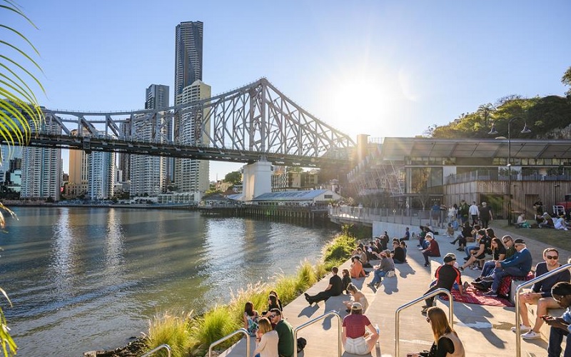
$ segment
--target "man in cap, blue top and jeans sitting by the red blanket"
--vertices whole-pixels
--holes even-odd
[[[504,276],[527,276],[531,271],[532,256],[525,246],[525,241],[516,239],[513,243],[515,254],[503,261],[496,261],[492,275],[482,279],[482,281],[493,281],[491,290],[484,293],[485,296],[497,296],[497,288],[500,287]]]

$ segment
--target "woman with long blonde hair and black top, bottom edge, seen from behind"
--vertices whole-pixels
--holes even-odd
[[[407,357],[465,357],[464,346],[458,334],[448,323],[442,308],[428,308],[426,321],[433,329],[434,343],[428,352],[408,353]]]

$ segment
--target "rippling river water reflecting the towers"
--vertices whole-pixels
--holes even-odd
[[[18,356],[123,346],[157,311],[203,311],[231,290],[315,261],[333,228],[196,211],[15,208],[0,287]]]

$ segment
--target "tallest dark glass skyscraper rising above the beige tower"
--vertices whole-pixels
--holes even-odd
[[[201,21],[185,21],[176,26],[175,97],[195,81],[202,81],[202,31]]]

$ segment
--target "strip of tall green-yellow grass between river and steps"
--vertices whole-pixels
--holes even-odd
[[[146,343],[148,349],[163,343],[171,346],[173,357],[205,356],[208,346],[223,336],[242,327],[242,316],[246,301],[252,301],[258,311],[268,307],[270,291],[276,291],[284,305],[293,301],[301,293],[323,278],[330,268],[345,262],[356,245],[356,238],[350,233],[349,227],[343,228],[343,233],[336,236],[328,246],[325,246],[323,259],[315,266],[309,261],[303,261],[295,274],[285,276],[277,274],[268,283],[248,285],[245,289],[232,293],[231,302],[218,305],[202,315],[192,311],[164,311],[157,313],[149,321]],[[238,338],[228,340],[217,346],[217,349],[228,348],[238,341]],[[161,356],[156,354],[156,356]],[[163,355],[166,356],[166,353]]]

